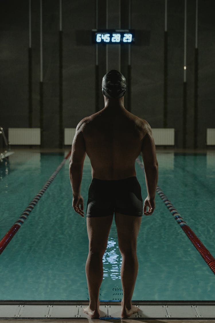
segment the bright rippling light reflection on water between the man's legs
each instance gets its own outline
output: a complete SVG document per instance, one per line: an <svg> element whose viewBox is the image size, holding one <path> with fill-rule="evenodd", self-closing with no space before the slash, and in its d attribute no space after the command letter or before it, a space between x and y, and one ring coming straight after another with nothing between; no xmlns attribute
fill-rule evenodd
<svg viewBox="0 0 215 323"><path fill-rule="evenodd" d="M112 280L120 279L122 257L117 241L113 237L108 238L107 249L103 255L103 279L111 277Z"/></svg>

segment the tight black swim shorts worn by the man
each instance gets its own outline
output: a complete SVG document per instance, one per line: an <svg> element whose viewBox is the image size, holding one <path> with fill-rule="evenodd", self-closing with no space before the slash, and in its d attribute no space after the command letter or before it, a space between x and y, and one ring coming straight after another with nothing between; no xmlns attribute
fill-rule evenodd
<svg viewBox="0 0 215 323"><path fill-rule="evenodd" d="M142 211L141 187L136 176L114 181L92 179L87 217L101 217L114 212L142 216Z"/></svg>

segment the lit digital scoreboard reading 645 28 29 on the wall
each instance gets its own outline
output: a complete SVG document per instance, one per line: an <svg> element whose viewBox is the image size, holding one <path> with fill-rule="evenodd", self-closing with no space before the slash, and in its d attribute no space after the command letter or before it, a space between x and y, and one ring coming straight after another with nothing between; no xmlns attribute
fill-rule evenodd
<svg viewBox="0 0 215 323"><path fill-rule="evenodd" d="M128 29L93 29L92 36L95 44L132 44L135 42L134 30Z"/></svg>

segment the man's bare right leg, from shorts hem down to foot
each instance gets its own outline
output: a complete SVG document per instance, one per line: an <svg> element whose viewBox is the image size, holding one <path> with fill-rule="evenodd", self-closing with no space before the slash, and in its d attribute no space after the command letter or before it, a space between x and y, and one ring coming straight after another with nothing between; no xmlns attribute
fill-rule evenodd
<svg viewBox="0 0 215 323"><path fill-rule="evenodd" d="M132 295L138 272L136 247L141 219L142 217L139 216L115 213L118 244L122 255L122 318L138 312L138 308L132 305Z"/></svg>

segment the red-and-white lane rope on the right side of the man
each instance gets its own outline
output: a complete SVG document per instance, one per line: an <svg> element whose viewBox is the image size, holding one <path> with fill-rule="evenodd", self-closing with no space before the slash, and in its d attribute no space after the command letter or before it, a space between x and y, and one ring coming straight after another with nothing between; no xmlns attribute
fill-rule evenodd
<svg viewBox="0 0 215 323"><path fill-rule="evenodd" d="M139 157L136 159L138 165L144 171L144 165L140 161ZM210 254L209 250L202 244L200 239L195 235L195 233L191 230L191 228L186 224L186 222L183 220L182 216L178 213L178 211L174 208L174 206L170 203L166 195L161 191L160 187L157 186L156 192L160 196L161 200L165 203L166 207L170 211L170 213L174 216L174 219L177 221L177 223L181 226L181 229L184 231L184 233L187 235L187 237L190 239L194 247L198 250L206 264L209 266L210 270L215 275L215 259Z"/></svg>

